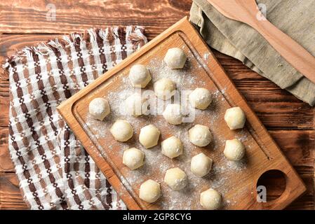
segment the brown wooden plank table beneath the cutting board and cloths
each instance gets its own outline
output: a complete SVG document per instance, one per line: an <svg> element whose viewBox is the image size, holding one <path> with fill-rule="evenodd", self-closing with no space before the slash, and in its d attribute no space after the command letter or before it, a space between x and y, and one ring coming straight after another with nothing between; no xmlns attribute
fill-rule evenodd
<svg viewBox="0 0 315 224"><path fill-rule="evenodd" d="M47 1L1 1L0 61L4 62L6 56L25 45L91 27L143 25L151 40L189 15L191 3L190 0L56 1L56 17L51 21L46 18ZM307 185L307 193L288 209L315 209L315 108L250 71L238 60L216 51L215 55ZM0 209L27 209L8 154L9 83L4 71L0 71L0 76ZM273 183L270 198L279 196L281 182L269 179L268 183Z"/></svg>

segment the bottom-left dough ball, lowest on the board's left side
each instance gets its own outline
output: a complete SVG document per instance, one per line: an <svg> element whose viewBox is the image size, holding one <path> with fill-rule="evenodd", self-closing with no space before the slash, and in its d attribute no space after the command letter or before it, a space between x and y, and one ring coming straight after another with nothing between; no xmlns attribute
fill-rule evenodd
<svg viewBox="0 0 315 224"><path fill-rule="evenodd" d="M140 186L139 197L148 203L156 202L161 196L160 184L153 180L147 180Z"/></svg>

